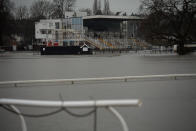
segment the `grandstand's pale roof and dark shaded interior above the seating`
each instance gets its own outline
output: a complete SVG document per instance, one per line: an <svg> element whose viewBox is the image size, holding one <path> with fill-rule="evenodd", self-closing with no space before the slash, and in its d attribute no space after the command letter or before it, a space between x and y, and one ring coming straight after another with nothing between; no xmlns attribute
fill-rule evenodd
<svg viewBox="0 0 196 131"><path fill-rule="evenodd" d="M137 16L95 15L83 17L83 20L84 27L88 32L116 33L121 37L135 37L137 26L142 18Z"/></svg>

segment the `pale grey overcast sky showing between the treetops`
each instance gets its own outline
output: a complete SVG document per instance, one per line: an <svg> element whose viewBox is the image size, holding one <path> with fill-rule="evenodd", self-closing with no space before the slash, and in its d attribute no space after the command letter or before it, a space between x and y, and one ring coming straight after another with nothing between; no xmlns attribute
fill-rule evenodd
<svg viewBox="0 0 196 131"><path fill-rule="evenodd" d="M35 0L12 0L15 2L16 6L18 5L31 5L31 3ZM49 0L51 1L51 0ZM91 8L94 0L76 0L76 9L78 8ZM104 0L101 0L102 8ZM137 12L140 0L109 0L111 11L126 11L128 14L131 12Z"/></svg>

